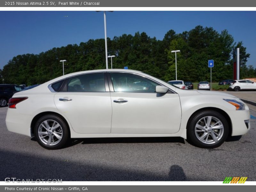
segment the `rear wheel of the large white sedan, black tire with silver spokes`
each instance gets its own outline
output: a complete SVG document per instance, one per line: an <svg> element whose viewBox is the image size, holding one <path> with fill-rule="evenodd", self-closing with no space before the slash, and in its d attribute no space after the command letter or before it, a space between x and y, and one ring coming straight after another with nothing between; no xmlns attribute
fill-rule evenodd
<svg viewBox="0 0 256 192"><path fill-rule="evenodd" d="M60 126L58 126L58 124L55 123L55 125L57 125L58 128L55 129L54 131L53 131L53 129L52 129L52 131L48 129L49 131L51 131L48 133L48 131L46 131L46 129L44 128L46 126L45 126L45 123L43 123L43 122L48 122L50 129L52 129L54 127L53 126L54 122L57 122ZM50 127L50 126L52 126L52 127ZM44 132L44 133L47 132L47 134L39 136L39 133L38 133L39 131ZM59 116L56 116L56 115L45 115L45 116L42 116L41 118L39 118L36 122L36 125L34 128L34 133L36 135L36 140L39 143L39 145L41 145L43 148L46 148L46 149L60 149L67 143L67 140L69 138L67 124L63 121L62 118L60 118ZM59 136L62 133L61 139L58 139L55 136L57 133ZM47 138L48 138L48 140L51 138L50 140L52 140L53 142L50 141L50 144L46 143ZM56 144L54 144L54 142L56 142Z"/></svg>

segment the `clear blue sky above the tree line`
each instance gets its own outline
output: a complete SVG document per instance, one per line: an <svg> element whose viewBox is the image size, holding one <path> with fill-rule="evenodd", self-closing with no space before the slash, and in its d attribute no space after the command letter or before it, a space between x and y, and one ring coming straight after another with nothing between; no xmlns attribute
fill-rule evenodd
<svg viewBox="0 0 256 192"><path fill-rule="evenodd" d="M236 42L243 41L251 54L247 65L256 68L255 20L255 11L115 11L107 12L107 36L139 31L162 40L170 29L176 33L197 25L218 32L227 29ZM104 38L103 12L95 11L1 11L0 27L0 68L19 54Z"/></svg>

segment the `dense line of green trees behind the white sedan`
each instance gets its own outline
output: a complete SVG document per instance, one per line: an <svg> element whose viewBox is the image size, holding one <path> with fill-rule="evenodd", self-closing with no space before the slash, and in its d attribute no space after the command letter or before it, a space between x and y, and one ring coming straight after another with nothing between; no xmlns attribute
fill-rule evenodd
<svg viewBox="0 0 256 192"><path fill-rule="evenodd" d="M227 30L221 33L212 27L196 26L190 31L176 34L169 30L163 40L150 37L145 32L123 34L107 39L108 55L115 55L113 68L143 71L165 81L175 80L175 53L177 52L177 76L184 81L209 81L208 60L214 60L212 81L233 77L234 49L240 48L240 77L255 77L256 69L247 67L250 54L243 42L235 42ZM62 63L67 60L65 74L106 68L104 39L68 44L39 54L23 54L13 57L0 70L4 83L42 84L62 75ZM110 60L108 68L111 68Z"/></svg>

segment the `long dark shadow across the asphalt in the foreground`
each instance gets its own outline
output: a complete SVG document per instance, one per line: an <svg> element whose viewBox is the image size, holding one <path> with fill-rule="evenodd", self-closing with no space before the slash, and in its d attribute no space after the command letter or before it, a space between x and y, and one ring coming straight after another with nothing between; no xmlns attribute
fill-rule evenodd
<svg viewBox="0 0 256 192"><path fill-rule="evenodd" d="M178 164L170 164L167 173L154 170L132 169L126 166L77 162L65 157L26 154L17 151L2 150L0 161L0 180L10 176L18 179L38 178L61 179L62 181L194 181L206 180L202 177L187 177ZM45 171L45 170L50 171ZM168 168L167 168L168 169ZM209 178L208 178L209 179ZM216 178L218 180L218 178Z"/></svg>

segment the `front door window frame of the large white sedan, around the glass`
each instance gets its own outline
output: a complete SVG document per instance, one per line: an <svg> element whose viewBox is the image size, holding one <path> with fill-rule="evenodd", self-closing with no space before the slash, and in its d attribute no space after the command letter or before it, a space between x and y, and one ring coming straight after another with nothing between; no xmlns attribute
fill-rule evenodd
<svg viewBox="0 0 256 192"><path fill-rule="evenodd" d="M113 83L112 83L112 80L111 80L110 73L127 73L127 74L138 75L138 76L144 77L144 78L146 78L146 79L148 79L150 81L153 81L154 83L156 83L158 85L165 86L165 85L161 84L160 82L155 81L154 79L151 79L149 77L143 76L143 75L138 74L138 73L124 72L124 71L109 71L109 72L107 72L107 76L108 76L108 86L109 86L110 92L115 92L114 91L114 86L113 86ZM167 86L165 86L165 87L167 87ZM168 88L168 92L167 93L176 93L172 89L170 89L169 87L167 87L167 88ZM156 92L116 92L116 93L156 93Z"/></svg>

